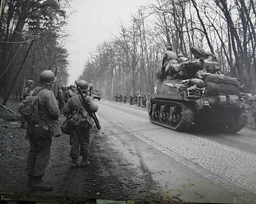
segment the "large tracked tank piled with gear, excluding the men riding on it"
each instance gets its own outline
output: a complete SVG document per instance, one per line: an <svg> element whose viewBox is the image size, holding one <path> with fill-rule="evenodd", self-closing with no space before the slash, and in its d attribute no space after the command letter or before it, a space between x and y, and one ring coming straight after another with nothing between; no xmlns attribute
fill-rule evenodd
<svg viewBox="0 0 256 204"><path fill-rule="evenodd" d="M195 48L196 49L196 48ZM247 123L238 79L220 73L209 56L166 66L150 96L149 118L154 124L185 132L194 127L235 133Z"/></svg>

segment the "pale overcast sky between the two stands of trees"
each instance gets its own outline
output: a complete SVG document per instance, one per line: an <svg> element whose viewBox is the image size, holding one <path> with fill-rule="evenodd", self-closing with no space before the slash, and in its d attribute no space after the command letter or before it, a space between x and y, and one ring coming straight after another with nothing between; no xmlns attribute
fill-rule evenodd
<svg viewBox="0 0 256 204"><path fill-rule="evenodd" d="M138 6L146 5L154 0L73 0L68 32L71 35L67 43L69 52L69 84L83 71L89 53L93 53L97 45L110 39L119 31L119 22L125 25L130 22L130 15L136 13Z"/></svg>

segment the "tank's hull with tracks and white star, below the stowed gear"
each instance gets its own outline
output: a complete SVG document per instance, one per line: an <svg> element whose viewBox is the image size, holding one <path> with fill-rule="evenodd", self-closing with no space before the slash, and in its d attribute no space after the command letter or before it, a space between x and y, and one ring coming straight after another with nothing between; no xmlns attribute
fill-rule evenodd
<svg viewBox="0 0 256 204"><path fill-rule="evenodd" d="M236 105L228 102L221 104L225 96L211 96L202 100L202 93L194 91L191 94L182 87L182 80L157 81L152 93L150 121L165 128L180 132L193 128L235 133L247 123L246 113L239 101ZM198 101L203 104L198 104Z"/></svg>

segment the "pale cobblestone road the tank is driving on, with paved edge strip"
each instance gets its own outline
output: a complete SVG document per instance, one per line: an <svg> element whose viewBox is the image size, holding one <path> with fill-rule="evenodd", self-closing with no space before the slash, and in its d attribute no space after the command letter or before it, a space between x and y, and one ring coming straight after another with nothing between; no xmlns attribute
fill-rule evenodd
<svg viewBox="0 0 256 204"><path fill-rule="evenodd" d="M98 104L105 136L130 134L139 139L136 148L144 167L165 196L176 195L182 201L256 203L255 131L180 133L150 123L146 108L107 100ZM129 141L124 143L129 146Z"/></svg>

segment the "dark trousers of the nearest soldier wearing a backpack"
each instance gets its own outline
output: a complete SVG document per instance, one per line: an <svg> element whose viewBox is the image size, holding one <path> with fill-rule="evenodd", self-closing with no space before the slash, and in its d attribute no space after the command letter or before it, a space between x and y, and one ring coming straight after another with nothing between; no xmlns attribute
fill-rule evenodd
<svg viewBox="0 0 256 204"><path fill-rule="evenodd" d="M31 128L29 134L30 149L27 160L27 174L29 176L44 176L49 163L52 138L42 138L36 127Z"/></svg>

